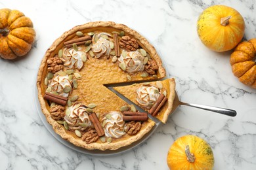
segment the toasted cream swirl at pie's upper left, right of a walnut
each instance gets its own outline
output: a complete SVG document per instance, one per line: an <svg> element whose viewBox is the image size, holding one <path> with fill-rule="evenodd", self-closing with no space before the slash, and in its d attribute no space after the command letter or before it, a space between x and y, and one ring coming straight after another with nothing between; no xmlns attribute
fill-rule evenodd
<svg viewBox="0 0 256 170"><path fill-rule="evenodd" d="M64 48L63 56L60 59L68 69L80 70L83 67L82 55L86 56L85 52L81 51L81 48L78 48L78 51L75 51L74 48Z"/></svg>

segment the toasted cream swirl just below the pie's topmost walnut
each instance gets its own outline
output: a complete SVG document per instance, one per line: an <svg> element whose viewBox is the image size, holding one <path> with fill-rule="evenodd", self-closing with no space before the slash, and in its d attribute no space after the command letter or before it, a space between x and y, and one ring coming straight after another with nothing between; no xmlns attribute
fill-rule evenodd
<svg viewBox="0 0 256 170"><path fill-rule="evenodd" d="M135 74L144 71L144 57L138 51L127 52L126 56L120 56L119 62L125 63L127 73Z"/></svg>

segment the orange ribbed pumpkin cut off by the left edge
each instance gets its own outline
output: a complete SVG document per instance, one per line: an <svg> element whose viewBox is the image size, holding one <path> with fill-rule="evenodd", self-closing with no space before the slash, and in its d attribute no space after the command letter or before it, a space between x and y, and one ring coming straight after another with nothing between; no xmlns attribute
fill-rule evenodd
<svg viewBox="0 0 256 170"><path fill-rule="evenodd" d="M26 55L35 41L30 18L22 12L0 9L0 57L14 59Z"/></svg>

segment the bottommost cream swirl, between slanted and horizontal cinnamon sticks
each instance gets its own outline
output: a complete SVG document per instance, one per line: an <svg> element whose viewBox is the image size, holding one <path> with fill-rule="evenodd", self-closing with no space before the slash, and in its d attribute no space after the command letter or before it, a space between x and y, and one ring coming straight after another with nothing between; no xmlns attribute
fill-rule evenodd
<svg viewBox="0 0 256 170"><path fill-rule="evenodd" d="M108 114L110 115L108 118L105 117L102 119L103 122L106 121L106 124L103 127L106 137L119 138L125 135L125 132L123 131L125 122L123 122L122 114L114 111Z"/></svg>

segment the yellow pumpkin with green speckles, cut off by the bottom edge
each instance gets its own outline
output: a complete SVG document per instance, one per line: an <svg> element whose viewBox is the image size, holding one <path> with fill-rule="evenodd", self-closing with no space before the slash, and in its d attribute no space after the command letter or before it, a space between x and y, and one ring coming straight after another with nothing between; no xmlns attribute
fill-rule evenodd
<svg viewBox="0 0 256 170"><path fill-rule="evenodd" d="M172 170L213 169L213 151L202 138L185 135L169 148L167 165Z"/></svg>

